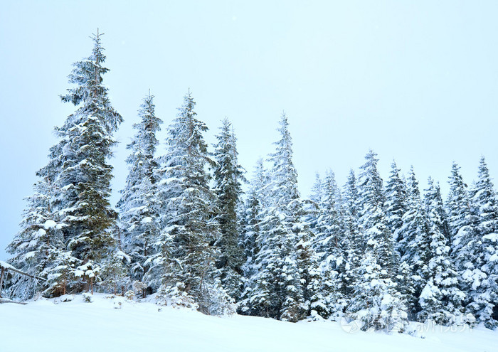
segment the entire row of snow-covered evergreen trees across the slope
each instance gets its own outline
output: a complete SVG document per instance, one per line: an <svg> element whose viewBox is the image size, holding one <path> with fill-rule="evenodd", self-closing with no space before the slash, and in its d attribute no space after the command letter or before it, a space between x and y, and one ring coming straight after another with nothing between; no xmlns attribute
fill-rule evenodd
<svg viewBox="0 0 498 352"><path fill-rule="evenodd" d="M59 142L8 247L12 265L47 281L11 276L11 297L96 285L206 314L345 316L388 331L408 319L497 326L498 203L484 159L470 188L453 164L445 203L438 183L429 179L422 196L413 169L404 179L395 163L384 186L373 151L358 179L351 170L339 187L329 171L304 199L282 114L275 152L258 161L243 199L231 123L223 120L210 153L189 92L157 156L162 121L149 94L116 211L108 161L122 117L102 85L100 35L93 40L61 97L77 110L55 129Z"/></svg>

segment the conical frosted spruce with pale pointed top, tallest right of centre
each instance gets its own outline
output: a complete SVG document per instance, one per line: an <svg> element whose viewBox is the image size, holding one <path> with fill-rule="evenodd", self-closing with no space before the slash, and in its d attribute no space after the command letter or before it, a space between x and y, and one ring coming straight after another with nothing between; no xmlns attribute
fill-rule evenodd
<svg viewBox="0 0 498 352"><path fill-rule="evenodd" d="M305 207L297 191L297 172L292 163L292 139L287 117L280 119L280 140L270 155L270 185L265 189L268 202L259 223L255 274L248 279L243 300L248 314L298 321L321 300L317 287L319 272L312 233Z"/></svg>

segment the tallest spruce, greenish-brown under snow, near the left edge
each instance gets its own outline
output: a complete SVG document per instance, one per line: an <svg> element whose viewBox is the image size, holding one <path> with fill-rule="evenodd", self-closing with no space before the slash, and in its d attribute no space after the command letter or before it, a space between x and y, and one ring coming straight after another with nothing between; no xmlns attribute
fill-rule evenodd
<svg viewBox="0 0 498 352"><path fill-rule="evenodd" d="M54 211L65 223L63 240L72 255L83 262L99 262L115 245L112 235L117 213L109 202L112 166L107 159L116 144L112 134L122 117L110 104L102 84L105 55L101 34L93 36L90 57L78 61L69 75L76 85L61 96L78 107L62 127L55 129L60 142L53 146L49 164L38 171L56 186ZM90 288L88 279L87 287Z"/></svg>

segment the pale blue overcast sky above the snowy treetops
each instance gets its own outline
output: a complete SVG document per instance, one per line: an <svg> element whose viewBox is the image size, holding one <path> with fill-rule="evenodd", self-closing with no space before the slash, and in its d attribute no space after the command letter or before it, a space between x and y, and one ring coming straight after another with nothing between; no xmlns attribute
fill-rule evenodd
<svg viewBox="0 0 498 352"><path fill-rule="evenodd" d="M248 176L272 152L285 110L303 196L317 171L344 183L370 148L384 180L396 159L404 172L414 166L421 188L433 176L447 191L452 161L470 184L482 154L495 177L497 16L497 1L2 1L0 260L53 127L75 110L58 95L97 28L124 117L115 203L149 89L163 127L189 88L208 142L231 119Z"/></svg>

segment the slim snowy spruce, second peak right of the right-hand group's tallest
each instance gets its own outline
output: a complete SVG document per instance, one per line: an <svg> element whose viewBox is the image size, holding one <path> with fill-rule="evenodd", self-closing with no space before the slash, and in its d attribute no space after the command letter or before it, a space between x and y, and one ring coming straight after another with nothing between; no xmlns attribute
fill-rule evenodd
<svg viewBox="0 0 498 352"><path fill-rule="evenodd" d="M398 234L401 238L399 242L401 260L406 262L411 269L413 296L407 298L410 313L415 316L420 311L418 297L420 297L425 282L428 280L430 235L429 221L425 206L420 198L418 181L415 178L413 167L410 168L407 183L407 211L401 219L403 226L398 230Z"/></svg>

